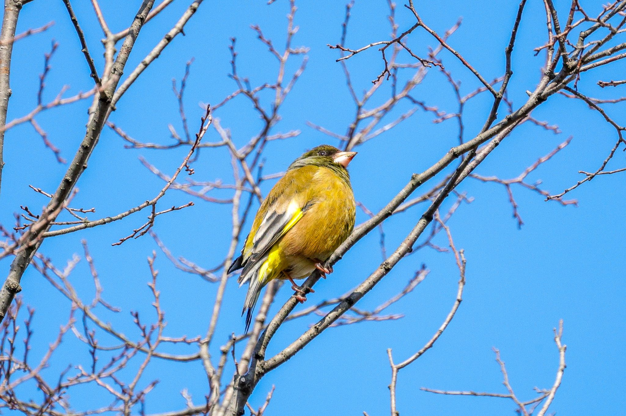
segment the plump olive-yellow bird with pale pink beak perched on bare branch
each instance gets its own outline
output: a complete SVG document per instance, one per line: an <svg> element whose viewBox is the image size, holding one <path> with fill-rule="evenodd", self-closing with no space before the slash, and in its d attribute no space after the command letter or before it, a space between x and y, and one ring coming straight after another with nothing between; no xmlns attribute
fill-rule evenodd
<svg viewBox="0 0 626 416"><path fill-rule="evenodd" d="M242 310L242 315L247 310L246 332L261 289L270 281L289 280L302 303L306 292L294 279L316 269L322 277L332 272L326 260L354 229L356 207L346 169L354 155L329 145L305 152L261 204L240 257L228 269L244 269L240 286L250 282Z"/></svg>

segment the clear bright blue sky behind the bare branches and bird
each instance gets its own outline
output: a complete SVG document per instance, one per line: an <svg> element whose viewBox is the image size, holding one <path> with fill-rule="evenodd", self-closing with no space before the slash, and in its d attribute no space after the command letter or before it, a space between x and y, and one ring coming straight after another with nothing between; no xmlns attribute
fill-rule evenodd
<svg viewBox="0 0 626 416"><path fill-rule="evenodd" d="M141 31L126 73L170 29L187 3L173 2ZM567 12L568 2L556 3L563 13ZM584 2L592 14L596 13L595 3ZM138 4L140 2L136 0L101 2L114 31L128 26ZM418 11L424 21L439 32L448 29L462 16L463 25L450 42L486 79L493 79L503 74L503 51L517 5L517 1L497 4L418 2ZM285 102L282 120L274 132L300 129L302 134L288 141L269 144L267 173L282 171L305 149L324 142L336 144L333 139L307 127L306 121L343 133L354 114L341 67L334 61L338 57L337 51L326 46L339 41L345 5L339 1L300 1L298 7L296 22L300 29L294 46L310 47L310 61ZM86 1L75 1L74 8L100 68L103 64L99 42L101 31L91 6ZM249 77L253 85L275 79L277 63L249 26L259 24L266 36L282 46L287 11L285 0L278 0L271 6L257 0L205 2L187 25L187 36L177 37L148 68L118 103L111 120L140 141L170 141L167 124L171 122L181 130L171 79L180 79L185 62L195 57L185 102L190 129L197 130L203 112L197 103L217 103L236 89L227 77L230 37L237 37L242 76ZM402 7L401 2L397 14L400 30L413 24L410 12ZM386 2L357 0L347 45L360 47L386 39L389 33L386 16ZM36 0L25 6L18 32L51 20L56 24L47 32L15 44L11 65L13 96L8 120L28 113L36 105L38 74L43 69L43 54L49 51L51 38L60 46L51 61L44 101L53 99L63 84L71 86L68 95L86 91L93 84L62 2ZM513 53L515 75L510 85L510 97L518 105L525 99L524 91L533 89L540 75L544 58L542 54L535 57L532 49L544 42L543 4L529 1ZM422 54L426 46L435 46L431 37L419 31L409 38L409 44ZM441 57L454 78L463 81L463 94L478 87L471 74L450 54L441 54ZM289 71L298 64L296 57ZM382 68L379 54L373 49L355 57L349 64L357 91L369 87L371 79ZM622 79L625 69L625 64L620 61L603 67L601 71L587 72L579 88L590 96L615 97L620 93L620 87L602 90L595 82L598 79ZM621 88L624 94L626 87ZM444 111L456 110L451 88L436 71L431 71L423 84L416 87L414 96ZM383 96L378 98L382 99ZM89 103L82 101L45 112L37 118L66 159L71 159L83 137ZM486 95L468 104L466 137L471 138L480 130L489 107ZM408 102L402 104L390 120L409 108ZM623 104L607 107L618 119L625 109ZM534 115L558 124L563 133L555 135L530 124L522 126L478 168L478 173L515 177L538 157L573 135L570 146L529 177L529 182L541 179L544 189L557 193L582 179L578 170L597 169L617 140L612 127L582 102L552 97ZM215 116L220 117L223 126L232 130L239 146L259 131L260 121L244 99L234 101ZM454 145L455 122L433 124L432 119L432 114L418 111L409 121L358 149L359 156L351 164L357 201L362 201L371 210L380 209L406 184L412 173L423 171ZM217 140L215 131L209 131L207 139ZM187 149L128 150L123 144L110 129L105 129L89 168L80 179L80 193L73 205L96 207L92 218L123 212L151 199L163 186L160 179L141 166L138 156L144 156L163 172L173 172L187 152ZM37 210L46 203L43 196L28 188L28 184L53 191L66 166L54 161L51 152L44 148L40 137L28 124L8 132L4 158L0 220L9 225L13 222L13 212L18 212L20 205ZM618 152L609 167L618 169L625 164L623 152ZM196 181L217 178L232 181L225 149L203 150L194 168L193 179ZM626 342L623 307L626 289L623 279L625 180L626 174L622 173L597 177L584 184L568 195L578 199L578 207L544 202L541 196L515 187L515 197L525 221L521 230L511 217L511 207L502 186L473 180L462 184L460 190L475 199L471 204L463 204L449 225L456 245L465 249L468 259L464 302L434 349L401 371L398 380L401 414L513 415L515 406L509 400L434 395L421 392L419 387L505 393L491 351L491 347L497 347L516 393L522 400L529 400L535 397L533 387L549 388L553 384L558 352L552 328L559 319L565 322L563 341L568 345L568 367L551 411L563 415L626 414L622 388L626 382L623 364ZM272 183L264 184L262 191L269 191L270 186ZM215 195L226 196L227 192ZM185 204L190 200L190 196L170 191L159 207ZM197 203L194 207L158 217L155 231L175 255L184 255L203 267L213 267L227 252L230 207L194 202ZM445 207L449 207L449 202ZM390 250L404 239L423 209L415 207L385 223ZM100 312L105 320L116 322L132 337L138 335L128 311L140 310L146 318L153 316L150 292L145 285L150 278L145 259L152 250L158 251L158 247L149 236L130 240L121 247L111 247L111 242L143 224L147 214L141 212L114 224L55 237L46 240L41 249L60 267L74 253L81 253L80 239L87 239L105 288L105 299L123 309L117 316L103 310ZM364 219L366 216L359 212L357 222ZM249 224L245 227L247 231ZM378 238L376 232L372 232L362 239L336 265L335 273L316 287L309 302L342 294L365 279L381 261ZM443 235L436 242L446 245ZM389 414L387 385L390 370L386 349L393 349L396 361L403 360L420 349L443 322L456 294L458 270L453 256L431 249L409 256L360 305L375 307L396 294L421 264L431 270L426 280L389 309L390 313L405 314L403 319L327 330L294 359L265 377L255 390L252 403L262 404L265 394L275 384L274 399L267 415L359 415L362 411L371 416ZM9 262L4 260L0 266L6 275ZM156 267L160 270L158 287L168 321L167 335L205 334L217 285L183 274L160 252ZM93 282L86 262L78 265L71 279L84 298L91 299ZM22 285L25 302L37 310L32 354L40 357L56 336L58 326L65 322L69 305L33 269L26 272ZM227 341L230 332L243 329L240 307L244 292L237 289L235 280L228 283L213 345L215 352ZM274 310L289 295L287 290L280 292ZM283 325L272 340L269 353L278 352L289 344L311 322L314 319L307 318ZM104 336L101 342L114 344ZM185 347L177 347L177 350L185 351ZM188 347L187 351L195 352L195 347ZM55 379L59 369L66 367L68 362L73 365L90 363L87 350L73 334L67 335L66 342L44 374ZM134 369L128 369L128 374ZM182 409L185 404L179 392L183 388L189 390L197 403L208 393L206 376L199 362L180 365L153 360L144 382L153 379L159 379L160 383L148 396L145 409L148 414ZM41 395L31 388L21 391L24 394L30 391L36 400ZM73 390L70 398L78 410L110 400L101 390L86 388Z"/></svg>

